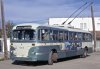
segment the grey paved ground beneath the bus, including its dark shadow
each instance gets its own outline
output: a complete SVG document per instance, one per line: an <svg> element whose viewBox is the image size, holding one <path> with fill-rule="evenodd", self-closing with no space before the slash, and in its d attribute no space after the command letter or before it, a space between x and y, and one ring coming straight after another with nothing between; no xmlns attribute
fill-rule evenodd
<svg viewBox="0 0 100 69"><path fill-rule="evenodd" d="M65 61L66 60L66 61ZM12 64L11 60L0 61L0 69L100 69L100 52L90 54L87 58L60 60L48 65L47 62Z"/></svg>

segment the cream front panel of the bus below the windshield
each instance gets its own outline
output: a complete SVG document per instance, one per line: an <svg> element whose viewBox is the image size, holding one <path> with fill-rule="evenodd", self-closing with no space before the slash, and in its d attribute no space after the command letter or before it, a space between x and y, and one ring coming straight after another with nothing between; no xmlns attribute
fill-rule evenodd
<svg viewBox="0 0 100 69"><path fill-rule="evenodd" d="M32 47L32 43L13 43L13 53L16 57L27 57L28 51Z"/></svg>

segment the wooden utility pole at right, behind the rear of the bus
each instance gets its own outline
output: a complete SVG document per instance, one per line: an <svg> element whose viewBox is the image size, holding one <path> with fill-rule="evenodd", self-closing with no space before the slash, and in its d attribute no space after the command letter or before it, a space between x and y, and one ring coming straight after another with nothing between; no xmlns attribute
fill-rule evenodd
<svg viewBox="0 0 100 69"><path fill-rule="evenodd" d="M92 27L93 27L94 52L95 52L96 51L96 31L95 31L93 4L91 5L91 17L92 17Z"/></svg>

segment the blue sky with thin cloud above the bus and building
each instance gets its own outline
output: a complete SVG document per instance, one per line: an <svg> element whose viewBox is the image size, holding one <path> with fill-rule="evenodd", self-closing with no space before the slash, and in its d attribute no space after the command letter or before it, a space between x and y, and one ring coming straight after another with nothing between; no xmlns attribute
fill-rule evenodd
<svg viewBox="0 0 100 69"><path fill-rule="evenodd" d="M5 20L10 20L14 23L42 23L47 22L49 18L66 18L86 2L88 5L90 1L91 0L4 0ZM94 16L99 17L100 0L94 0L93 2ZM90 7L88 7L78 17L90 16ZM75 17L75 15L72 17Z"/></svg>

